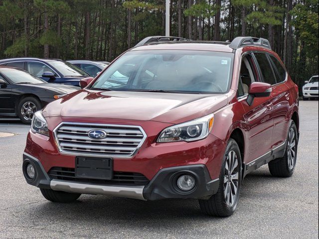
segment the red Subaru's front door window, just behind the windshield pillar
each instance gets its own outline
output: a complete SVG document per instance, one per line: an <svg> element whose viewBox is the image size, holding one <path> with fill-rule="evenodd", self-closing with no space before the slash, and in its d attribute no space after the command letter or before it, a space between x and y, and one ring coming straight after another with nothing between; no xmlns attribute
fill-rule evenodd
<svg viewBox="0 0 319 239"><path fill-rule="evenodd" d="M243 57L240 68L240 77L238 83L238 97L247 95L251 83L255 82L255 72L252 67L253 61L250 54Z"/></svg>

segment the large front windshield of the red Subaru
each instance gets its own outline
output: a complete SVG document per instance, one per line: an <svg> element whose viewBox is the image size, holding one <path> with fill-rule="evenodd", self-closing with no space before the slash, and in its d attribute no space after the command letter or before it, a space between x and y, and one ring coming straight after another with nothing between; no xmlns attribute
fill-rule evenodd
<svg viewBox="0 0 319 239"><path fill-rule="evenodd" d="M92 89L220 94L228 91L233 53L193 50L130 51Z"/></svg>

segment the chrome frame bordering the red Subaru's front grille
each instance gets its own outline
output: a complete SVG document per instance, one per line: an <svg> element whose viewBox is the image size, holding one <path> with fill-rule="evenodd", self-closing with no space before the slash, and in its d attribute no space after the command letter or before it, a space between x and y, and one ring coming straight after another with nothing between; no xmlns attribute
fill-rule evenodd
<svg viewBox="0 0 319 239"><path fill-rule="evenodd" d="M61 147L61 144L59 142L59 138L58 138L58 129L62 126L62 125L83 125L83 126L96 126L98 129L99 126L106 126L106 127L117 127L117 128L132 128L132 129L138 129L141 131L141 133L143 134L143 138L141 139L141 141L139 142L138 145L132 145L135 149L132 153L130 154L126 154L126 155L120 155L120 154L98 154L98 153L94 153L94 152L69 152L66 150L63 150ZM94 129L94 128L92 128ZM54 135L54 141L55 144L57 145L59 151L61 154L65 154L65 155L73 155L73 156L92 156L92 157L111 157L111 158L132 158L134 157L137 152L139 151L139 149L141 148L141 146L143 145L143 143L145 142L146 138L147 138L147 134L145 133L145 131L143 130L143 128L139 125L124 125L124 124L102 124L102 123L78 123L78 122L61 122L59 125L57 125L54 129L53 129L53 135ZM106 140L106 139L105 139ZM103 142L103 140L101 141ZM72 142L71 142L72 143ZM70 144L71 145L71 144ZM97 145L99 146L99 145Z"/></svg>

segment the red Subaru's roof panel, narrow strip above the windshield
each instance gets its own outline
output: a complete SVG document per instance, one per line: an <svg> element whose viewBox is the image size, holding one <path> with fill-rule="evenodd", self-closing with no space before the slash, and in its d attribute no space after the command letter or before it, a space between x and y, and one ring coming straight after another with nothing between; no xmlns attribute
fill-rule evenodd
<svg viewBox="0 0 319 239"><path fill-rule="evenodd" d="M197 50L197 51L219 51L219 52L233 52L229 45L224 44L209 44L209 43L171 43L165 42L160 44L150 44L132 48L131 51L139 50Z"/></svg>

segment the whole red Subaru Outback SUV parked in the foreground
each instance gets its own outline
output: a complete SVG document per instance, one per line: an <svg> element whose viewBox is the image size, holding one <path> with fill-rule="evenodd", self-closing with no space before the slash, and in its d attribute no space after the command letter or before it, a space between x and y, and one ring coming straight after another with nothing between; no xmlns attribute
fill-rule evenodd
<svg viewBox="0 0 319 239"><path fill-rule="evenodd" d="M23 173L47 200L194 198L226 217L249 172L294 172L298 88L266 39L150 37L81 86L27 136Z"/></svg>

